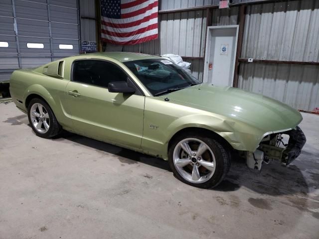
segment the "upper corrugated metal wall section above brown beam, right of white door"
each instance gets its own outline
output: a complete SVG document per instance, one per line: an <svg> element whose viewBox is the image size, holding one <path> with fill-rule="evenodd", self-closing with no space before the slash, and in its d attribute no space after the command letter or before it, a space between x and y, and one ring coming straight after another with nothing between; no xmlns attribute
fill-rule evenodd
<svg viewBox="0 0 319 239"><path fill-rule="evenodd" d="M318 61L319 1L298 0L247 7L243 58Z"/></svg>

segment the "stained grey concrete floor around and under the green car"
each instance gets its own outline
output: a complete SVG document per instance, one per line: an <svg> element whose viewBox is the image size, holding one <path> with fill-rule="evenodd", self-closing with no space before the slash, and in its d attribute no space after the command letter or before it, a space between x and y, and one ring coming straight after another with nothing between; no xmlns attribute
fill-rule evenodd
<svg viewBox="0 0 319 239"><path fill-rule="evenodd" d="M220 186L187 186L164 160L75 134L35 136L0 104L0 239L319 239L319 116L289 167L234 160Z"/></svg>

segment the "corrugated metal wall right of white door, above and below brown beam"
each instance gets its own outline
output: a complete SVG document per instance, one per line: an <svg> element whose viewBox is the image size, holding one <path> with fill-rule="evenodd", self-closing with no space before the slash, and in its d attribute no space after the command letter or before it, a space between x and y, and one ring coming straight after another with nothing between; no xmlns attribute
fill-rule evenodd
<svg viewBox="0 0 319 239"><path fill-rule="evenodd" d="M319 1L247 7L242 58L319 61ZM239 87L296 109L319 107L319 66L242 63Z"/></svg>

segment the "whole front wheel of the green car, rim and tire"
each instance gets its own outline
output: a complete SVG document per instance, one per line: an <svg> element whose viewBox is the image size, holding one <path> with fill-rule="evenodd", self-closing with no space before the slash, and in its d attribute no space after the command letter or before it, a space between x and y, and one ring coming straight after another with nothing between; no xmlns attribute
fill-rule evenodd
<svg viewBox="0 0 319 239"><path fill-rule="evenodd" d="M199 188L211 188L226 176L230 154L215 139L184 133L173 140L168 161L180 181Z"/></svg>

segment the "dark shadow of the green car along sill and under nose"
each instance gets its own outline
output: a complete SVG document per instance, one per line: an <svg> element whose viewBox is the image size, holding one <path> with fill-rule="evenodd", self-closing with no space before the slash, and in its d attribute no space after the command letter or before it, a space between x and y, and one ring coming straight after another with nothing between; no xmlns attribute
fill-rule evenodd
<svg viewBox="0 0 319 239"><path fill-rule="evenodd" d="M64 132L61 138L54 140L69 140L85 145L95 150L116 155L122 163L143 163L163 170L171 171L168 162L133 150L83 137L74 133ZM272 196L303 194L307 195L308 185L301 170L296 165L284 166L278 161L263 165L261 171L249 169L242 158L233 158L226 178L211 190L232 192L246 187L260 194Z"/></svg>

